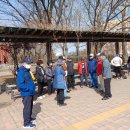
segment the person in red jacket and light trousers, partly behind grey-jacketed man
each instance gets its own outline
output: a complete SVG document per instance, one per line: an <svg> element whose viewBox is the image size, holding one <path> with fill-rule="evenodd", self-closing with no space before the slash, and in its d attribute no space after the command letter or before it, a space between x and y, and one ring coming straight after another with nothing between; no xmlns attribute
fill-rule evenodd
<svg viewBox="0 0 130 130"><path fill-rule="evenodd" d="M97 54L97 59L98 59L98 65L97 65L97 75L98 75L98 81L100 83L99 92L103 94L105 92L104 89L104 80L102 77L102 60L100 58L100 53Z"/></svg>

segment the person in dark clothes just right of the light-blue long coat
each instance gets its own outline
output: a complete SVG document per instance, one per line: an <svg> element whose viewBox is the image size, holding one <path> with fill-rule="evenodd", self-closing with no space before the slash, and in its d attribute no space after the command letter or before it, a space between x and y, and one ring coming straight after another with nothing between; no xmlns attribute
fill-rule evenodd
<svg viewBox="0 0 130 130"><path fill-rule="evenodd" d="M66 64L67 64L68 92L70 92L71 89L76 90L75 79L74 79L74 63L72 61L72 57L68 57Z"/></svg>

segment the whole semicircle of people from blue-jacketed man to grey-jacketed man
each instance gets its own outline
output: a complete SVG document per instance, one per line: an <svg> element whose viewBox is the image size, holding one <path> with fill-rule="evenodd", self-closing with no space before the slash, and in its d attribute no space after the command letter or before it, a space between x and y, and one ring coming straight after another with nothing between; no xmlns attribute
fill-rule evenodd
<svg viewBox="0 0 130 130"><path fill-rule="evenodd" d="M35 120L31 117L33 108L33 97L35 94L35 84L30 73L31 60L30 58L25 58L23 60L22 66L17 71L17 84L23 98L23 118L24 118L24 128L34 128L35 124L32 121ZM90 54L89 60L81 58L78 63L78 74L80 75L80 86L84 86L83 79L85 78L85 85L93 87L96 90L100 90L103 93L102 100L107 100L112 97L111 94L111 67L107 60L105 54L98 53L97 57L94 54ZM90 83L88 78L90 77ZM43 61L38 60L36 66L35 78L38 84L38 98L43 99L43 86L45 80L47 81L47 92L51 93L57 91L57 104L59 106L67 105L64 103L67 93L75 88L75 78L74 78L74 63L71 57L66 58L60 56L54 64L52 61L47 63L47 67L43 69ZM100 81L100 86L98 84L98 79Z"/></svg>

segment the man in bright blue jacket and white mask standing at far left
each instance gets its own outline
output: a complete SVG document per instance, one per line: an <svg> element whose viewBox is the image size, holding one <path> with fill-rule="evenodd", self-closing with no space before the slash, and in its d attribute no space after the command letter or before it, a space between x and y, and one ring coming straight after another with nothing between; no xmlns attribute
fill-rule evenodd
<svg viewBox="0 0 130 130"><path fill-rule="evenodd" d="M35 124L31 121L32 109L33 109L33 96L35 94L35 84L30 74L31 59L25 58L22 66L17 71L17 84L20 91L20 95L23 98L23 128L34 128Z"/></svg>

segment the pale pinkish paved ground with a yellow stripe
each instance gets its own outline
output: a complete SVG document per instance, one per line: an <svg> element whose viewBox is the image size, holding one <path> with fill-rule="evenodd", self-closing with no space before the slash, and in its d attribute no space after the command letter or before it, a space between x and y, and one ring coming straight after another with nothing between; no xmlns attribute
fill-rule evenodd
<svg viewBox="0 0 130 130"><path fill-rule="evenodd" d="M130 130L130 77L113 79L113 97L106 101L91 88L76 88L64 107L57 105L56 94L36 100L34 130ZM1 94L0 130L23 130L22 108L21 98L13 102Z"/></svg>

